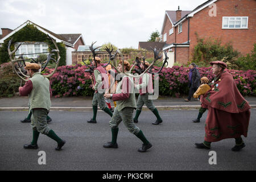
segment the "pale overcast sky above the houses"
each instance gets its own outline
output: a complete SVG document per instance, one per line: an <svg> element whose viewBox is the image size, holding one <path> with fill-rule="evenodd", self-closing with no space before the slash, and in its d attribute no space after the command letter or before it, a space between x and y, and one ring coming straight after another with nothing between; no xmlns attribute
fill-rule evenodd
<svg viewBox="0 0 256 182"><path fill-rule="evenodd" d="M161 31L166 10L193 10L207 0L0 0L0 28L31 20L55 34L82 34L85 44L138 48ZM2 34L0 32L0 34Z"/></svg>

